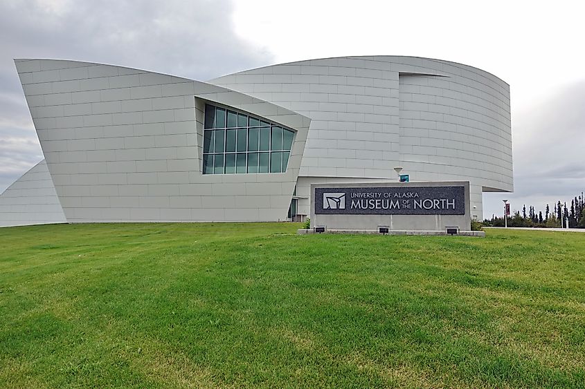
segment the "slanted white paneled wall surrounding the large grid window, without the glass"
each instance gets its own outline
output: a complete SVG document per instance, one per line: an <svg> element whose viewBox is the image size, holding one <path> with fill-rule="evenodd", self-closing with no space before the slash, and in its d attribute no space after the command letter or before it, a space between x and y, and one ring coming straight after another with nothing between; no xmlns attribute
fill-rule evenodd
<svg viewBox="0 0 585 389"><path fill-rule="evenodd" d="M69 222L286 220L310 120L235 91L144 70L15 60ZM285 173L201 173L204 104L296 131Z"/></svg>

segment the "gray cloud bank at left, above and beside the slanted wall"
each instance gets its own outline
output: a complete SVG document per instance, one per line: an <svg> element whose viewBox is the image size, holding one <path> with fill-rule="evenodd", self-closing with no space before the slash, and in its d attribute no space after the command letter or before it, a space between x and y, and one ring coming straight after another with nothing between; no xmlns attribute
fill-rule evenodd
<svg viewBox="0 0 585 389"><path fill-rule="evenodd" d="M233 32L227 0L2 1L0 193L42 159L13 58L56 58L206 80L269 64ZM6 38L5 38L6 37Z"/></svg>

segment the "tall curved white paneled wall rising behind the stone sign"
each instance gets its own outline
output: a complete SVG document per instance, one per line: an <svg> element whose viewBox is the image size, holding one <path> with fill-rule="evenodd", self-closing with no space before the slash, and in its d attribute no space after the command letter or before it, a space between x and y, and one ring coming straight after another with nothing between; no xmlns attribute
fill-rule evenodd
<svg viewBox="0 0 585 389"><path fill-rule="evenodd" d="M309 182L469 180L512 191L510 88L483 70L418 57L343 57L267 66L211 81L312 119L298 194ZM308 214L308 201L300 203Z"/></svg>

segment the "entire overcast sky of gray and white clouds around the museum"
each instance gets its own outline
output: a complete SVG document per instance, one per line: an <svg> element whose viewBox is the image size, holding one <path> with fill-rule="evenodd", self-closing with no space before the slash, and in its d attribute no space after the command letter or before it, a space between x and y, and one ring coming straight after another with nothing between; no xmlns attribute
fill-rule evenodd
<svg viewBox="0 0 585 389"><path fill-rule="evenodd" d="M13 58L96 61L206 80L319 57L414 55L510 84L514 193L484 216L585 190L585 51L577 1L3 0L0 192L42 152Z"/></svg>

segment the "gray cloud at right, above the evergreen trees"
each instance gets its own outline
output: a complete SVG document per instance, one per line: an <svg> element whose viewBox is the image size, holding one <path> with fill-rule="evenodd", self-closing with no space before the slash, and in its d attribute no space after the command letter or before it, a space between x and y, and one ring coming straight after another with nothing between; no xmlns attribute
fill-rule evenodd
<svg viewBox="0 0 585 389"><path fill-rule="evenodd" d="M512 103L514 99L512 98ZM514 193L484 195L484 216L570 200L585 191L585 82L566 87L547 102L514 113Z"/></svg>

